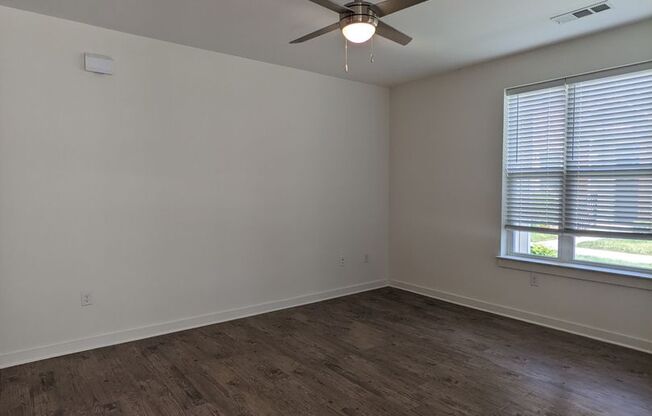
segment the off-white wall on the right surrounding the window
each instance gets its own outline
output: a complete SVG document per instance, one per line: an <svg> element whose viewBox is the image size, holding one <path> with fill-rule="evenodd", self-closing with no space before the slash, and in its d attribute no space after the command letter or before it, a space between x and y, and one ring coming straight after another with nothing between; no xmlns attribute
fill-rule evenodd
<svg viewBox="0 0 652 416"><path fill-rule="evenodd" d="M652 59L652 20L392 89L396 285L652 351L652 291L499 268L504 88Z"/></svg>

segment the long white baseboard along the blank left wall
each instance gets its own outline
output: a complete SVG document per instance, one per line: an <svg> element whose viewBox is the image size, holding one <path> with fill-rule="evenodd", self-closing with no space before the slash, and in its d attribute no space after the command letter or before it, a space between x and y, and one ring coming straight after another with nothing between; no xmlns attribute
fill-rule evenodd
<svg viewBox="0 0 652 416"><path fill-rule="evenodd" d="M245 306L242 308L193 316L176 321L163 322L140 328L131 328L124 331L111 332L88 338L76 339L52 345L4 353L0 354L0 369L39 360L45 360L48 358L59 357L62 355L88 351L95 348L108 347L110 345L117 345L125 342L137 341L159 335L170 334L173 332L185 331L188 329L213 325L220 322L232 321L234 319L246 318L248 316L260 315L263 313L292 308L295 306L307 305L309 303L321 302L328 299L366 292L386 286L388 286L388 282L386 280L377 280L322 292L310 293L307 295L288 299Z"/></svg>

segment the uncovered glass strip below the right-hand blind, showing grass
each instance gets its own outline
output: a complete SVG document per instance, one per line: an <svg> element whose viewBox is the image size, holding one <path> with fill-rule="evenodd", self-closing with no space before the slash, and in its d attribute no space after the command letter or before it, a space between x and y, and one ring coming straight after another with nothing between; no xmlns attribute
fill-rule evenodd
<svg viewBox="0 0 652 416"><path fill-rule="evenodd" d="M652 269L652 241L577 237L575 260Z"/></svg>

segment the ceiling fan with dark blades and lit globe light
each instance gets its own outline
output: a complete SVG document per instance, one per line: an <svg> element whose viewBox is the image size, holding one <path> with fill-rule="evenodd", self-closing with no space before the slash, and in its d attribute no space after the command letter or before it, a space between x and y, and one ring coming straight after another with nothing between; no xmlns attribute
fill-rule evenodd
<svg viewBox="0 0 652 416"><path fill-rule="evenodd" d="M412 38L382 22L380 18L428 0L385 0L375 4L369 3L368 1L355 0L344 6L333 3L330 0L309 1L339 13L340 21L302 36L299 39L295 39L290 43L302 43L340 29L349 42L364 43L371 39L374 34L378 34L405 46L410 43Z"/></svg>

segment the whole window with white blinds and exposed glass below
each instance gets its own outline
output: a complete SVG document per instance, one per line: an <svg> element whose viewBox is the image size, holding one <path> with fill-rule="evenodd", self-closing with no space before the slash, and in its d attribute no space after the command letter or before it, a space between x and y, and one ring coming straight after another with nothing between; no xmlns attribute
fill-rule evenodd
<svg viewBox="0 0 652 416"><path fill-rule="evenodd" d="M504 253L652 273L652 63L507 90Z"/></svg>

